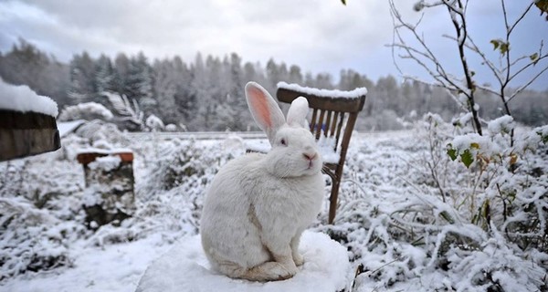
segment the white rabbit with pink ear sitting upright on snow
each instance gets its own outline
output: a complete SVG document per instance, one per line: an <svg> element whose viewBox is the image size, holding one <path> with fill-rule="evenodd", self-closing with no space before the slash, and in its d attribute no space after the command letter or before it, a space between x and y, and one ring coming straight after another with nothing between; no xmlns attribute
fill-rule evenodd
<svg viewBox="0 0 548 292"><path fill-rule="evenodd" d="M307 99L293 100L286 121L257 83L246 85L246 98L272 149L238 157L216 174L205 195L202 246L212 267L227 276L287 279L303 264L300 235L320 212L321 155L304 128Z"/></svg>

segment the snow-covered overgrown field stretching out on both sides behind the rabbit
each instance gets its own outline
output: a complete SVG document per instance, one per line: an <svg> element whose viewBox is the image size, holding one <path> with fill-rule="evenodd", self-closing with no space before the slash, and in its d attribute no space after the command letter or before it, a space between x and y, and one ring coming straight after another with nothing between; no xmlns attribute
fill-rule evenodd
<svg viewBox="0 0 548 292"><path fill-rule="evenodd" d="M360 269L355 278L349 273L347 290L545 290L546 246L509 241L494 224L501 217L494 199L492 224L474 221L479 206L470 202L484 202L487 194L467 196L474 176L442 157L445 144L431 151L428 132L419 128L353 136L332 225L326 224L330 186L325 189L311 230L347 247L353 271ZM155 258L198 233L207 184L227 160L243 155L246 143L235 135L127 135L99 122L77 133L63 138L59 151L0 162L0 291L134 291ZM89 146L135 154L136 214L96 232L84 225L84 173L75 159ZM541 178L545 158L527 157ZM438 162L436 172L428 162ZM534 197L543 202L544 181ZM532 220L546 228L548 209L539 208Z"/></svg>

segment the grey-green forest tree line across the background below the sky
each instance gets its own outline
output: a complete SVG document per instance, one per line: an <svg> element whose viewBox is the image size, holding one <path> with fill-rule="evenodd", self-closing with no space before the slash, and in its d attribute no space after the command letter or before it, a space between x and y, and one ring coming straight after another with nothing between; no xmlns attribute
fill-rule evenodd
<svg viewBox="0 0 548 292"><path fill-rule="evenodd" d="M145 115L185 130L256 129L244 96L249 80L274 93L279 81L320 89L368 89L358 130L395 130L402 120L413 120L427 112L450 120L460 110L445 89L419 82L399 82L393 76L376 82L365 75L343 69L337 81L327 73L303 72L297 65L270 59L266 66L243 63L236 53L224 57L197 53L185 62L181 57L150 60L142 53L124 53L94 58L86 52L59 62L34 45L20 40L10 51L0 53L0 77L12 84L26 84L40 95L57 101L59 110L85 102L111 109L104 92L135 100ZM133 102L133 101L132 101ZM486 120L502 115L501 101L479 92L480 115ZM538 126L548 123L548 90L526 90L512 100L511 111L519 122ZM113 111L114 112L114 111ZM121 125L139 130L131 124Z"/></svg>

